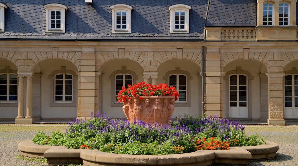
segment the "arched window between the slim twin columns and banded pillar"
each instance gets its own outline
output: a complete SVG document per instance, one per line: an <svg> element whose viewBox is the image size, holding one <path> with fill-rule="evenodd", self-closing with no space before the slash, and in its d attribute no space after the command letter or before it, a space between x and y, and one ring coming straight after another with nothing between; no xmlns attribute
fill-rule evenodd
<svg viewBox="0 0 298 166"><path fill-rule="evenodd" d="M55 103L72 103L73 79L71 74L55 75Z"/></svg>

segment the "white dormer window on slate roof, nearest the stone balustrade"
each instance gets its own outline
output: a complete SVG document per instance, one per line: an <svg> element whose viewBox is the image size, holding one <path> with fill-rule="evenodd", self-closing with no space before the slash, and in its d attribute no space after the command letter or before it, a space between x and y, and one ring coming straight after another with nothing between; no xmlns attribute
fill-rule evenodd
<svg viewBox="0 0 298 166"><path fill-rule="evenodd" d="M191 6L175 4L169 7L170 10L170 31L171 33L189 33L189 11Z"/></svg>

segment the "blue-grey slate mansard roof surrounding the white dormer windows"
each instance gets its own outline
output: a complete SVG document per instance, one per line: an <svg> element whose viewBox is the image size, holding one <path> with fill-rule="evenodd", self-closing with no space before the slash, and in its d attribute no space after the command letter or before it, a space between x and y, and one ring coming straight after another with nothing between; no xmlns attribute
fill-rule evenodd
<svg viewBox="0 0 298 166"><path fill-rule="evenodd" d="M5 32L0 39L41 40L204 40L204 26L257 26L255 0L0 0L5 10ZM60 3L66 10L66 32L46 33L44 4ZM127 4L131 33L112 34L110 6ZM190 33L170 34L170 11L174 4L191 6Z"/></svg>

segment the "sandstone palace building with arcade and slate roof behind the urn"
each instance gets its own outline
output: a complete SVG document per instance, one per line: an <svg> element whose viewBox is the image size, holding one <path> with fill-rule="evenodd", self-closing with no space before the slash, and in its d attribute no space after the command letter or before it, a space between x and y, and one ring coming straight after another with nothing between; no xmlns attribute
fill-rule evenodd
<svg viewBox="0 0 298 166"><path fill-rule="evenodd" d="M296 0L0 0L0 121L125 118L175 86L174 117L298 121Z"/></svg>

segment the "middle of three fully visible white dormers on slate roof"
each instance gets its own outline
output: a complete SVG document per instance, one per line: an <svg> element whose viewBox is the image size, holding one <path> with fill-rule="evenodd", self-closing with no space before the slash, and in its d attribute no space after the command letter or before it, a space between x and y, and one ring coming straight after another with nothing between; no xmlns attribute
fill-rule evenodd
<svg viewBox="0 0 298 166"><path fill-rule="evenodd" d="M110 6L112 10L112 33L131 33L132 6L115 4Z"/></svg>

